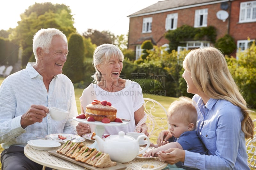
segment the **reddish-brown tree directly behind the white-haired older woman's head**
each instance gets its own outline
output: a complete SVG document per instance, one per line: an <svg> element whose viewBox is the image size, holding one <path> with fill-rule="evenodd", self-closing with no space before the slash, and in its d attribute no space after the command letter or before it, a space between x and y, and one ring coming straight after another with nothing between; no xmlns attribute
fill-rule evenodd
<svg viewBox="0 0 256 170"><path fill-rule="evenodd" d="M98 30L88 29L83 33L83 36L85 38L90 38L92 43L96 44L96 46L100 46L105 43L114 44L115 42L115 35L109 31L100 32Z"/></svg>

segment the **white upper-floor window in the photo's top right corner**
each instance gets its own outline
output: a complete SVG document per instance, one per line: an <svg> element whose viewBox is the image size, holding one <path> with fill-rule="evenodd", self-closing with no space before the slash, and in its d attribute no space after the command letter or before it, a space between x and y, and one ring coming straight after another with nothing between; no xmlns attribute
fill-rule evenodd
<svg viewBox="0 0 256 170"><path fill-rule="evenodd" d="M256 1L240 3L239 23L256 21Z"/></svg>

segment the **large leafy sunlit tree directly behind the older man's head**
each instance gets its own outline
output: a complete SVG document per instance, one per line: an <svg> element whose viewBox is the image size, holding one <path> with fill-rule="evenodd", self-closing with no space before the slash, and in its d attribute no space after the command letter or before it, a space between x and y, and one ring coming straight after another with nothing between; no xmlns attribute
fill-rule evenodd
<svg viewBox="0 0 256 170"><path fill-rule="evenodd" d="M74 18L71 10L65 4L35 3L20 15L21 21L10 34L12 43L20 45L23 49L22 66L26 66L33 55L33 35L41 28L57 28L67 37L76 32Z"/></svg>

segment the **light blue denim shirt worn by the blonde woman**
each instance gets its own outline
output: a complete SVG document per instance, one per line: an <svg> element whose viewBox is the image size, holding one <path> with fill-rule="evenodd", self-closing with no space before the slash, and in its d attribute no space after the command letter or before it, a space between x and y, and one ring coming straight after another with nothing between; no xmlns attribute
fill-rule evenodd
<svg viewBox="0 0 256 170"><path fill-rule="evenodd" d="M201 170L250 170L241 130L244 116L240 107L217 99L210 99L204 105L197 94L193 100L197 104L197 132L210 155L185 151L184 166Z"/></svg>

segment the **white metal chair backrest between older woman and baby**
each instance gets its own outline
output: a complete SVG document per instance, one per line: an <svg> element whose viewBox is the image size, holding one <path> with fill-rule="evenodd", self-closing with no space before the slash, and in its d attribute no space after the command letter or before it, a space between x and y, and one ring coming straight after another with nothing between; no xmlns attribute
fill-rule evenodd
<svg viewBox="0 0 256 170"><path fill-rule="evenodd" d="M147 114L146 124L150 141L156 141L162 130L168 129L167 111L158 101L144 98L144 111Z"/></svg>

